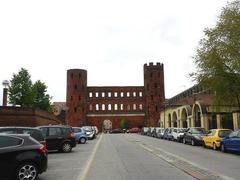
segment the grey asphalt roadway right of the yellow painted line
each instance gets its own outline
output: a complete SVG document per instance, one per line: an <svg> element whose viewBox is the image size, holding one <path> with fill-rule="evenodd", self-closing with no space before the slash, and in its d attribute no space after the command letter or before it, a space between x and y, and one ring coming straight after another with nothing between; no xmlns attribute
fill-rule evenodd
<svg viewBox="0 0 240 180"><path fill-rule="evenodd" d="M240 156L137 134L104 134L86 180L240 179Z"/></svg>

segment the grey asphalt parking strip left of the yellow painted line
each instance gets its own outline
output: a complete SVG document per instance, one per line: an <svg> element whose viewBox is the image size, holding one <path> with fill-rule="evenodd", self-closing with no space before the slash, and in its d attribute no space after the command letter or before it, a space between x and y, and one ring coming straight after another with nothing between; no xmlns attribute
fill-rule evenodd
<svg viewBox="0 0 240 180"><path fill-rule="evenodd" d="M99 138L99 137L98 137ZM39 180L80 179L97 139L86 144L78 144L70 153L50 152L47 172L39 175Z"/></svg>

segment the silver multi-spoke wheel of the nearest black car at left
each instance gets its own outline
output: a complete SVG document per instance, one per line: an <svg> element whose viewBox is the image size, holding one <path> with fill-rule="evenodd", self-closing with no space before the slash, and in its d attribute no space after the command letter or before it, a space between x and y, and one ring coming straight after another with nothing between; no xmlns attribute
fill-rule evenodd
<svg viewBox="0 0 240 180"><path fill-rule="evenodd" d="M25 180L25 179L36 180L37 177L38 177L38 168L34 163L24 162L20 166L18 166L16 170L17 180Z"/></svg>

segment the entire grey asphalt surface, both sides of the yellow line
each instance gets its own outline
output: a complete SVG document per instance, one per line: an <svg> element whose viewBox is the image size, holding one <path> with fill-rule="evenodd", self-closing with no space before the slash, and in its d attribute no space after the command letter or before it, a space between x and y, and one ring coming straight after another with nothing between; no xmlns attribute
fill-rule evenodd
<svg viewBox="0 0 240 180"><path fill-rule="evenodd" d="M240 156L138 134L103 134L49 153L38 180L240 179Z"/></svg>

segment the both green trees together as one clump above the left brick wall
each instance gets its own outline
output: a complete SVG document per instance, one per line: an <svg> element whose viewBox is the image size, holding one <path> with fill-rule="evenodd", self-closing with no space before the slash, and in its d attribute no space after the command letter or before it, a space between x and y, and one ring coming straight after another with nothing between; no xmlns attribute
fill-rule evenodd
<svg viewBox="0 0 240 180"><path fill-rule="evenodd" d="M34 107L51 111L51 97L46 94L47 86L40 80L32 84L29 72L21 68L10 80L9 101L21 107Z"/></svg>

